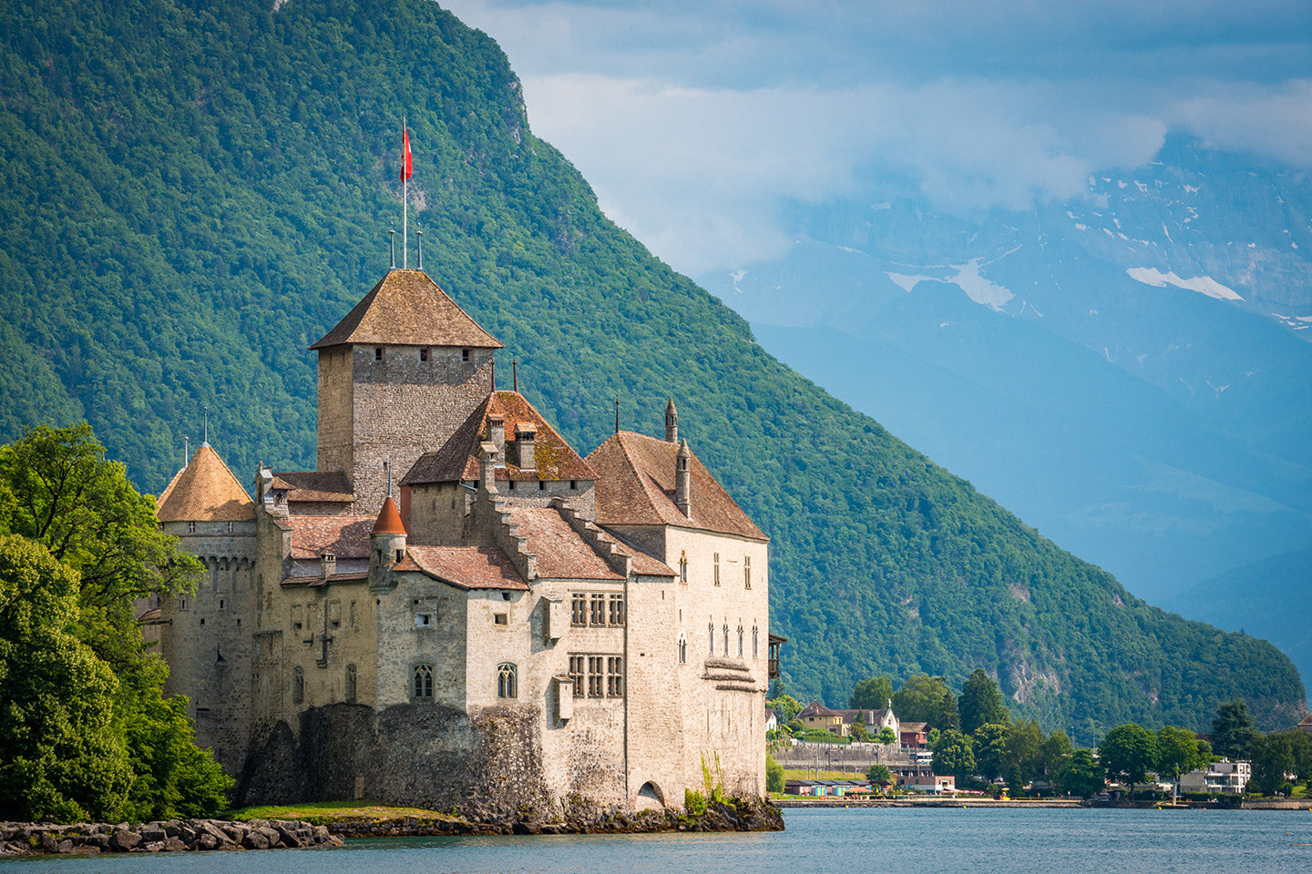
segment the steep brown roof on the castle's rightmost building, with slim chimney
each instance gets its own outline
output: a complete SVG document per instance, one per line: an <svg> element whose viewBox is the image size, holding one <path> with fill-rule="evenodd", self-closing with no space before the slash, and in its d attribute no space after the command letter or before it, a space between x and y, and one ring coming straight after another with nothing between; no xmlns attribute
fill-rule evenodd
<svg viewBox="0 0 1312 874"><path fill-rule="evenodd" d="M769 540L723 486L691 456L691 516L674 506L674 459L678 444L621 431L593 449L597 523L602 525L677 525Z"/></svg>

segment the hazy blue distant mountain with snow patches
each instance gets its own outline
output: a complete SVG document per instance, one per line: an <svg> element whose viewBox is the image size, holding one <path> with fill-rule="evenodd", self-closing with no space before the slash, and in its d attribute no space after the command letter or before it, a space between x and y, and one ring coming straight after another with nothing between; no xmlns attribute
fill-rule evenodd
<svg viewBox="0 0 1312 874"><path fill-rule="evenodd" d="M1176 596L1312 544L1305 174L1174 136L1027 212L900 197L790 221L787 256L703 284L1131 591L1203 618Z"/></svg>

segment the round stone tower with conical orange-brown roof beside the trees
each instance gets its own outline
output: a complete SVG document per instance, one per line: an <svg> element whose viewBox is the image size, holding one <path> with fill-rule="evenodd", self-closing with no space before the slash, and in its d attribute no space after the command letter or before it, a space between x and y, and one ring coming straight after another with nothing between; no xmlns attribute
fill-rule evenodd
<svg viewBox="0 0 1312 874"><path fill-rule="evenodd" d="M164 692L190 698L195 742L240 773L251 717L251 628L241 620L255 609L255 502L206 442L157 503L160 527L205 565L194 594L160 599Z"/></svg>

